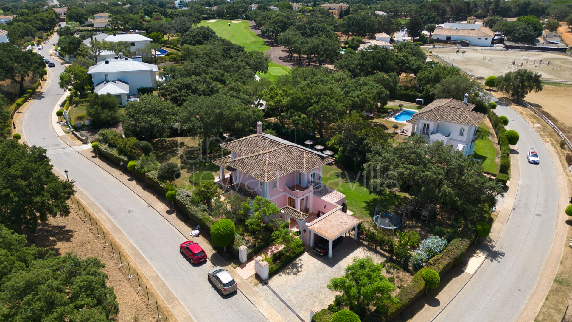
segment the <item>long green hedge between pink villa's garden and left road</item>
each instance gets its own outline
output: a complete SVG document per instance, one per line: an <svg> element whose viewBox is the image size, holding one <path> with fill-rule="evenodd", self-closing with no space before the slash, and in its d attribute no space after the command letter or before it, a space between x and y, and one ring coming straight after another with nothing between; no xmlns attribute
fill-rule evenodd
<svg viewBox="0 0 572 322"><path fill-rule="evenodd" d="M124 164L129 163L129 159L125 156L120 155L117 152L117 148L109 147L107 144L99 142L97 151L100 155L105 156L114 163L119 164L123 162ZM165 195L169 191L169 187L172 184L159 180L157 178L157 171L142 172L139 168L133 170L133 174L137 179L143 180L149 187L158 191L161 195ZM176 187L176 197L174 203L177 205L183 213L185 213L192 221L200 225L204 231L210 231L215 219L211 217L206 211L206 206L196 205L191 201L191 194L189 191ZM247 247L247 258L251 259L255 254L260 252L263 248L271 244L271 240L266 242L260 242L256 245L251 245L246 239L241 235L235 233L235 240L232 242L231 249L235 256L239 257L239 247ZM214 246L213 246L214 247Z"/></svg>

